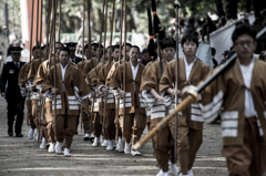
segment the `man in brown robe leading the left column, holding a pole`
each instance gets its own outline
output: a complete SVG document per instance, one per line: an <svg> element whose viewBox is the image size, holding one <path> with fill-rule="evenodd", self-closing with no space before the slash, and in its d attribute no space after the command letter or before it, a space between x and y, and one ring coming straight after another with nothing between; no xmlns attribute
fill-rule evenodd
<svg viewBox="0 0 266 176"><path fill-rule="evenodd" d="M63 48L60 51L60 64L57 64L57 77L54 80L54 66L48 72L42 84L42 92L45 96L55 96L53 101L53 117L55 118L57 145L55 153L60 154L62 143L64 143L64 156L71 156L70 146L76 130L76 118L79 116L79 104L85 108L84 100L89 96L89 89L81 71L70 64L70 50ZM55 85L54 85L55 81ZM57 108L57 114L54 114Z"/></svg>

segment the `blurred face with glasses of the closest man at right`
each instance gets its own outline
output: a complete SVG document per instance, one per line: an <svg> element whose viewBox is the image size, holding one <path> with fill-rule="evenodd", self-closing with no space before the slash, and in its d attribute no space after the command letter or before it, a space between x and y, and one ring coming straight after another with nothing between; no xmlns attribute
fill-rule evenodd
<svg viewBox="0 0 266 176"><path fill-rule="evenodd" d="M250 59L257 48L257 42L248 34L239 35L233 44L234 51L239 59Z"/></svg>

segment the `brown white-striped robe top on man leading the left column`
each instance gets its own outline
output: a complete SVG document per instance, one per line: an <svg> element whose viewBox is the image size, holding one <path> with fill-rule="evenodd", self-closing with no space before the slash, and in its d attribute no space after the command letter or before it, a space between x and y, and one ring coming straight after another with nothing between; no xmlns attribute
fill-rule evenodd
<svg viewBox="0 0 266 176"><path fill-rule="evenodd" d="M90 89L85 84L84 77L81 71L71 64L68 65L64 82L62 81L61 64L57 64L57 113L64 115L79 115L79 104L82 100L86 99L90 93ZM42 92L49 94L52 87L54 87L54 66L48 71L47 79L42 83ZM65 92L63 91L63 83ZM48 91L48 92L47 92ZM54 101L53 101L54 110ZM65 112L66 110L66 112Z"/></svg>

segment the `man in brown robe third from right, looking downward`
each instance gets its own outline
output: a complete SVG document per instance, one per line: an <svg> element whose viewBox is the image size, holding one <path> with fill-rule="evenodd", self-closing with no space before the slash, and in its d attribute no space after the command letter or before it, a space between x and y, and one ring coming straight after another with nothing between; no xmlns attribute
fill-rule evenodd
<svg viewBox="0 0 266 176"><path fill-rule="evenodd" d="M145 100L144 102L146 102L146 106L151 110L151 130L167 115L167 108L164 105L165 99L158 93L158 85L163 71L175 56L175 43L176 41L173 38L162 40L161 56L163 70L161 70L161 61L155 61L153 64L146 65L149 68L142 79L142 96ZM175 123L172 120L161 132L153 136L154 154L160 166L157 176L168 174L168 163L170 169L174 175L177 175L180 172L174 163L174 135Z"/></svg>

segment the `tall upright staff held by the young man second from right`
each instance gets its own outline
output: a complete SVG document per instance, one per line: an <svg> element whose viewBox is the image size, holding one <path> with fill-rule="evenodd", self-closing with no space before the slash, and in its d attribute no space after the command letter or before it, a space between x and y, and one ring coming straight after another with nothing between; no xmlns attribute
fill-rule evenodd
<svg viewBox="0 0 266 176"><path fill-rule="evenodd" d="M175 49L176 49L176 52L175 52L175 90L177 91L178 90L178 9L180 9L180 2L177 0L175 0L174 2L174 7L175 7L175 10L176 10L176 22L175 22L175 31L176 31L176 34L175 34L175 39L176 39L176 45L175 45ZM178 95L176 94L175 95L175 106L177 106L178 104ZM176 163L177 162L177 114L175 115L175 144L174 144L174 162Z"/></svg>

